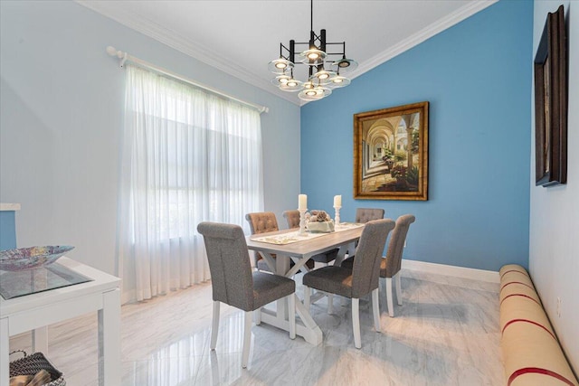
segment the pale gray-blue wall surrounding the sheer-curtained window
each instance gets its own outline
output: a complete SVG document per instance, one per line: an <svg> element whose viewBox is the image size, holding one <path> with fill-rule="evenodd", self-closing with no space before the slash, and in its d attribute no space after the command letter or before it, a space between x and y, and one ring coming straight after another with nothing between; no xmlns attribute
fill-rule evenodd
<svg viewBox="0 0 579 386"><path fill-rule="evenodd" d="M72 258L115 273L125 72L108 45L269 107L265 209L296 207L298 106L72 2L0 7L0 201L22 204L18 247L71 244Z"/></svg>

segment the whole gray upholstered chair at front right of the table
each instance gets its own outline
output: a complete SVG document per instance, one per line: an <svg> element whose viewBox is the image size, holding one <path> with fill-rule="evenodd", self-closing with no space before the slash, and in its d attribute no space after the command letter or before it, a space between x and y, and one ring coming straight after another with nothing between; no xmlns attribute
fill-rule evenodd
<svg viewBox="0 0 579 386"><path fill-rule="evenodd" d="M304 305L309 307L310 288L333 293L352 299L352 329L354 345L361 348L360 339L360 297L372 293L372 309L376 332L380 331L380 310L378 306L378 277L380 260L388 233L394 229L392 220L375 220L365 224L357 256L352 269L327 266L308 272L303 277Z"/></svg>

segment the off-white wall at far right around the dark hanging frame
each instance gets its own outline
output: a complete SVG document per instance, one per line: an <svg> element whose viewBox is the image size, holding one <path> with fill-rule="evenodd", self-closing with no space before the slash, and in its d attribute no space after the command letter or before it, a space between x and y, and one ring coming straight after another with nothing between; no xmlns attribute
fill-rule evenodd
<svg viewBox="0 0 579 386"><path fill-rule="evenodd" d="M529 268L547 315L575 373L579 372L579 2L535 1L533 47L546 14L565 6L569 38L569 112L567 184L535 186L535 151L531 159ZM532 103L529 100L529 103ZM535 110L533 109L533 127ZM534 128L529 130L535 148ZM557 297L561 316L557 315Z"/></svg>

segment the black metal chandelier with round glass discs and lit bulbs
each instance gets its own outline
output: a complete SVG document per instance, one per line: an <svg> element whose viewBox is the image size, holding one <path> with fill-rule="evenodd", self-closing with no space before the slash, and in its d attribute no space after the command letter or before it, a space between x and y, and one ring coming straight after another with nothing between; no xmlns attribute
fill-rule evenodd
<svg viewBox="0 0 579 386"><path fill-rule="evenodd" d="M346 87L350 80L342 74L356 69L358 63L346 59L346 42L326 42L326 30L314 33L314 1L310 0L309 42L289 41L289 47L280 43L280 58L270 61L268 68L277 76L271 82L283 91L299 91L302 100L318 100L327 97L332 89ZM297 47L307 49L296 54ZM341 47L341 52L327 52L327 46ZM299 61L296 61L299 56ZM334 58L334 59L332 59ZM308 80L294 78L297 64L308 66Z"/></svg>

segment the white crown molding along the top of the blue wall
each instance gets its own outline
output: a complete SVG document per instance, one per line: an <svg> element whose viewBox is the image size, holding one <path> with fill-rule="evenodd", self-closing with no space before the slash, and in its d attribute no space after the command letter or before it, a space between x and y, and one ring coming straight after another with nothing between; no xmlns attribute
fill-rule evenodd
<svg viewBox="0 0 579 386"><path fill-rule="evenodd" d="M451 28L451 26L455 24L459 24L461 21L469 18L473 14L476 14L497 2L498 0L480 0L460 7L453 13L439 19L437 22L422 28L421 31L414 33L413 35L404 39L402 42L399 42L384 52L380 52L367 61L360 63L356 71L350 72L350 78L354 79L367 71L375 69L375 67L379 66L380 64L393 59L403 52L410 50L421 42L424 42L432 38L432 36L441 33L448 28Z"/></svg>

